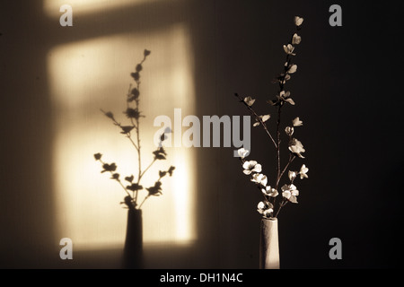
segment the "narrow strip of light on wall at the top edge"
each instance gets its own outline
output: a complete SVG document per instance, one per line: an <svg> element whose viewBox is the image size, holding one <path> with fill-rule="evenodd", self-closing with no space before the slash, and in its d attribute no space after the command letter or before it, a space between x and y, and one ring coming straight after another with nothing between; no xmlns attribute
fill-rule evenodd
<svg viewBox="0 0 404 287"><path fill-rule="evenodd" d="M51 17L60 17L60 7L64 4L72 6L78 15L99 13L111 9L125 8L134 4L150 3L154 0L44 0L44 11Z"/></svg>

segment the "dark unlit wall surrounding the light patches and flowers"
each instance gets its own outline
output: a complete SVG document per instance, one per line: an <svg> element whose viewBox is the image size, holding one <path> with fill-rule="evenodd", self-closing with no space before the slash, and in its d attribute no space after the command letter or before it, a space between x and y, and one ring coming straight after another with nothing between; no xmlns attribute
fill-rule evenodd
<svg viewBox="0 0 404 287"><path fill-rule="evenodd" d="M342 7L342 27L329 26L331 4ZM281 267L401 267L402 4L172 0L146 2L141 13L129 6L74 19L72 28L48 19L41 1L2 1L0 11L1 267L119 267L118 250L82 253L71 262L58 258L49 48L83 33L188 22L197 116L247 115L233 93L264 102L277 92L270 80L282 69L294 15L305 20L294 58L298 72L288 83L297 104L285 117L303 118L299 139L310 171L299 185L300 203L279 215ZM262 130L253 129L251 149L266 170L275 168ZM197 200L196 244L145 250L146 267L258 268L260 196L242 176L233 149L198 149ZM342 240L342 260L329 259L334 237Z"/></svg>

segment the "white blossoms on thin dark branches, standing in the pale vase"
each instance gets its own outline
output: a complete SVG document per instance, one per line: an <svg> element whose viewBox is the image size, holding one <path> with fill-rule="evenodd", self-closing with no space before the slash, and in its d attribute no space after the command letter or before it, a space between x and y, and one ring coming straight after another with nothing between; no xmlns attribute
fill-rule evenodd
<svg viewBox="0 0 404 287"><path fill-rule="evenodd" d="M285 90L285 84L287 81L291 79L291 75L297 71L297 65L292 62L293 57L296 55L294 53L294 49L296 45L299 45L302 38L297 34L299 30L301 30L303 23L303 18L295 16L294 17L294 25L296 31L294 32L292 38L289 42L283 46L286 60L284 65L284 71L277 75L277 78L272 81L272 83L277 83L279 86L279 91L277 92L276 99L268 100L268 104L277 109L277 124L276 124L276 136L273 136L267 126L268 120L271 118L269 114L259 115L256 110L253 108L255 99L251 97L242 97L237 93L236 97L240 99L240 101L249 109L252 117L255 118L256 122L253 126L262 126L262 128L267 133L271 143L275 146L276 157L277 157L277 175L273 184L268 184L268 177L264 175L262 172L262 166L257 161L246 161L246 157L249 155L250 151L241 148L238 150L238 154L242 161L243 173L250 177L250 181L254 182L259 188L259 192L262 193L264 199L259 202L257 206L257 210L264 218L277 218L278 213L281 208L285 206L287 203L297 204L297 196L299 196L299 190L294 185L294 180L296 178L308 178L307 172L309 169L303 164L299 171L297 170L288 170L291 163L296 159L304 159L303 152L305 149L303 148L303 144L301 141L294 137L294 132L296 127L303 126L303 121L300 117L295 117L289 125L281 127L281 112L285 105L294 106L294 100L291 98L291 92ZM285 166L282 167L281 164L281 134L285 134L287 137L287 149L289 152L289 159L285 163ZM287 176L289 179L288 183L285 183L282 187L280 187L281 179L285 175L287 171ZM279 187L282 192L282 198L280 201L277 201L279 196Z"/></svg>

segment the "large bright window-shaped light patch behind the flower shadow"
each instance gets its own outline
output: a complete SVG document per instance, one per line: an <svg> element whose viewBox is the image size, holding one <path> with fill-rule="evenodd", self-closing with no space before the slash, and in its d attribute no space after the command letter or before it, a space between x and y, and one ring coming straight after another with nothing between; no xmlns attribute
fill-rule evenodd
<svg viewBox="0 0 404 287"><path fill-rule="evenodd" d="M119 204L123 188L101 174L102 160L116 162L121 178L136 175L136 150L100 109L112 111L122 124L127 120L126 94L130 73L147 57L141 73L140 105L143 168L153 161L154 118L173 109L195 114L192 57L187 30L176 25L160 32L119 34L59 46L48 54L48 74L53 101L56 138L54 178L57 194L57 230L60 238L73 239L75 248L122 245L127 210ZM173 177L162 178L160 197L142 207L144 239L148 242L189 242L196 239L194 218L195 160L189 148L167 148L167 161L158 161L142 178L151 187L158 170L174 165ZM146 191L144 190L144 194Z"/></svg>

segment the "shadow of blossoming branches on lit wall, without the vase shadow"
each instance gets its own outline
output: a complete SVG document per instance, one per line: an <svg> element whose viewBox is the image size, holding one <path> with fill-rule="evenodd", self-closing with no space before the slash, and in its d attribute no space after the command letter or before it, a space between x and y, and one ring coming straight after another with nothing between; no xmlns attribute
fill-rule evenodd
<svg viewBox="0 0 404 287"><path fill-rule="evenodd" d="M162 142L166 139L165 134L160 136L160 143L157 149L153 152L153 160L149 163L149 165L142 169L142 154L141 154L141 145L140 145L140 118L145 117L140 111L140 72L143 70L143 64L146 58L150 55L150 51L145 49L143 60L136 65L136 71L131 73L131 77L135 80L136 86L132 87L132 84L129 85L129 90L127 91L127 109L123 112L127 118L127 125L122 125L112 114L112 112L105 112L101 109L101 112L109 117L114 126L118 126L120 130L120 134L125 135L127 139L132 143L137 152L137 176L132 174L124 178L127 182L125 185L120 179L120 175L117 170L117 164L115 162L107 163L101 160L102 154L100 152L94 154L94 159L96 161L100 161L102 164L101 173L109 172L111 175L111 179L116 180L119 183L119 186L123 188L126 192L127 196L121 204L126 204L129 210L140 210L142 205L145 203L145 200L150 198L151 196L161 196L162 195L162 178L166 175L171 177L173 170L175 167L171 166L168 170L159 170L157 180L154 182L154 185L151 187L146 187L147 194L143 196L143 200L140 204L139 202L139 193L144 190L144 187L141 185L141 179L145 176L147 170L149 170L156 161L166 160L167 152L162 147ZM135 131L135 136L133 135L133 131ZM167 132L167 131L166 131Z"/></svg>

